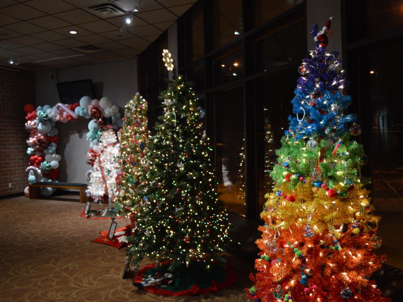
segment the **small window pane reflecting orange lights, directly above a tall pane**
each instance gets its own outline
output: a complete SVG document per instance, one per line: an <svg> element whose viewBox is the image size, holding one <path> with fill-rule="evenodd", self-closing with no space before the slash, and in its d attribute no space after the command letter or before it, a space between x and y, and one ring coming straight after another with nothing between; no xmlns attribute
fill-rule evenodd
<svg viewBox="0 0 403 302"><path fill-rule="evenodd" d="M243 75L243 53L240 47L214 60L214 83L216 86L236 81Z"/></svg>

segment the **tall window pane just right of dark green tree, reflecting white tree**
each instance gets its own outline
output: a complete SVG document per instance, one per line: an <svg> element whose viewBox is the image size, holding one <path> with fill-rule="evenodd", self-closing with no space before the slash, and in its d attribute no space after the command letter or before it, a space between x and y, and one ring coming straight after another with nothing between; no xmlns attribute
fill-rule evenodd
<svg viewBox="0 0 403 302"><path fill-rule="evenodd" d="M231 110L228 110L231 108ZM245 216L243 88L215 95L216 174L220 199Z"/></svg>

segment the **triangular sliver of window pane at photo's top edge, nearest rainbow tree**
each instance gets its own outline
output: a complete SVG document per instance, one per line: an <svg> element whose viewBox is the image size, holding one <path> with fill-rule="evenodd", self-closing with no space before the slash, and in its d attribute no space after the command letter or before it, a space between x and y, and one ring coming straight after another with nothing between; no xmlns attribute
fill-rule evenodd
<svg viewBox="0 0 403 302"><path fill-rule="evenodd" d="M260 26L302 3L303 0L255 0L255 26Z"/></svg>

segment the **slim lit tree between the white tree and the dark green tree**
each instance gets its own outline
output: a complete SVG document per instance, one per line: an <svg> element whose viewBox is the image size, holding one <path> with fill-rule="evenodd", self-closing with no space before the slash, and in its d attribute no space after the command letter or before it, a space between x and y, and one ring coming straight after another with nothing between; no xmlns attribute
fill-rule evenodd
<svg viewBox="0 0 403 302"><path fill-rule="evenodd" d="M146 169L147 101L137 93L125 106L120 136L119 163L122 171L115 198L115 208L120 213L131 215L136 210L136 190L139 178Z"/></svg>

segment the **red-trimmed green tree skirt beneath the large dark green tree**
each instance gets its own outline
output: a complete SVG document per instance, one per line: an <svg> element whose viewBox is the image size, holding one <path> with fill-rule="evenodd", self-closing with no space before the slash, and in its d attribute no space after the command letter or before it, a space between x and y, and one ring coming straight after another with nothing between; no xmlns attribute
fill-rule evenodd
<svg viewBox="0 0 403 302"><path fill-rule="evenodd" d="M150 276L163 276L167 272L169 261L163 262L159 269L155 268L155 264L149 264L137 272L133 285L149 292L161 295L182 296L207 294L209 292L226 288L236 282L237 277L232 265L229 262L227 262L225 265L226 267L222 267L219 264L213 264L211 265L210 272L206 272L204 265L193 263L192 267L192 263L190 263L189 269L186 269L184 265L182 267L175 268L171 279L166 279L159 284L154 284L151 286L139 286L139 283ZM205 274L205 276L202 277L203 282L201 283L205 284L196 284L195 282L192 283L192 276L197 277L203 274ZM185 282L182 282L180 280L181 278L184 279ZM206 282L206 278L209 280L208 282ZM172 280L172 282L168 283L170 280Z"/></svg>

